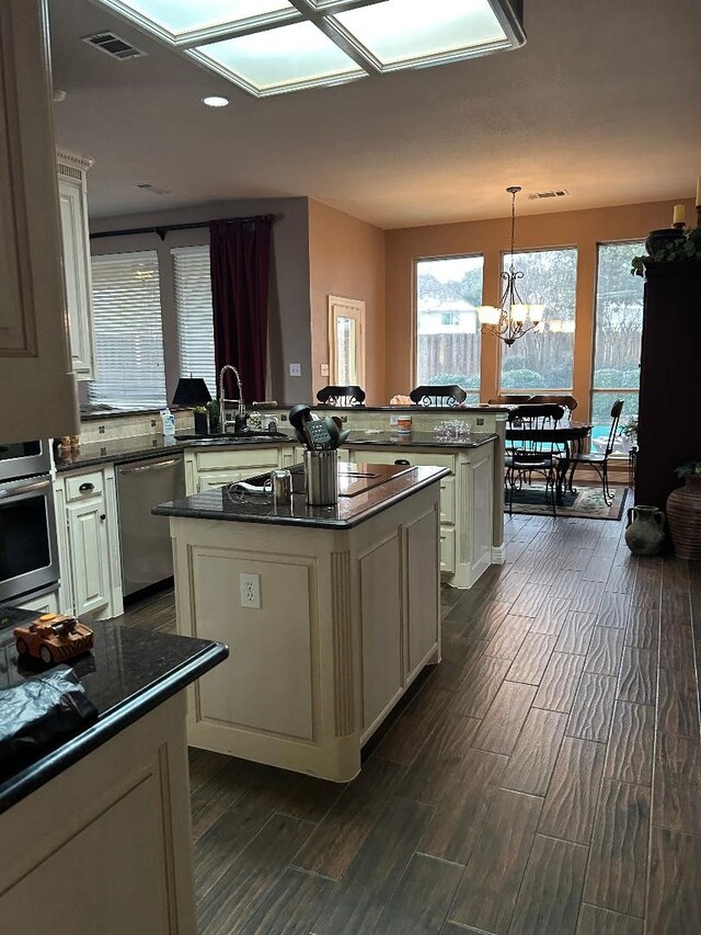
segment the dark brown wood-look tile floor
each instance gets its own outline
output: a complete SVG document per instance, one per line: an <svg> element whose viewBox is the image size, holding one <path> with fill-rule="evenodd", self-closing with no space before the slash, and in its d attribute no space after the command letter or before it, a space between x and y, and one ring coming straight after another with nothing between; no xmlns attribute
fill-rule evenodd
<svg viewBox="0 0 701 935"><path fill-rule="evenodd" d="M353 783L192 751L203 935L701 933L701 563L505 529Z"/></svg>

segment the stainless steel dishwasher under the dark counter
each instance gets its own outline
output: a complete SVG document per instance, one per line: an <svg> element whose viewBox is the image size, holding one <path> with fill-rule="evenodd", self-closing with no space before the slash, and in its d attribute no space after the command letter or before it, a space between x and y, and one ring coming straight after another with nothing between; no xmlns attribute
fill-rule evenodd
<svg viewBox="0 0 701 935"><path fill-rule="evenodd" d="M151 510L185 495L182 455L117 464L124 596L173 575L170 522Z"/></svg>

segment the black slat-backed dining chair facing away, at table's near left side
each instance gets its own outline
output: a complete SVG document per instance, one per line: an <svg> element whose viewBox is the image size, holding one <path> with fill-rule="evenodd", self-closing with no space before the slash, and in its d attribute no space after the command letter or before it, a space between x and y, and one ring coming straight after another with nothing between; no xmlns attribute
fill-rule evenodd
<svg viewBox="0 0 701 935"><path fill-rule="evenodd" d="M555 487L560 453L552 430L558 427L563 415L563 407L555 403L526 403L516 406L508 413L504 484L509 516L513 513L517 481L519 488L522 487L525 477L530 483L533 474L542 474L545 480L545 504L550 503L552 515L558 515ZM524 437L518 437L519 432L522 432Z"/></svg>

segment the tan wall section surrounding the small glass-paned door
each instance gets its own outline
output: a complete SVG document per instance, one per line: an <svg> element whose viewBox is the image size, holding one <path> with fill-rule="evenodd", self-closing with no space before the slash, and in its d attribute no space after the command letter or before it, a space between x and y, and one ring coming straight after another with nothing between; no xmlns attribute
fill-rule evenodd
<svg viewBox="0 0 701 935"><path fill-rule="evenodd" d="M329 384L330 295L365 301L367 402L387 402L384 387L384 231L310 198L312 390Z"/></svg>

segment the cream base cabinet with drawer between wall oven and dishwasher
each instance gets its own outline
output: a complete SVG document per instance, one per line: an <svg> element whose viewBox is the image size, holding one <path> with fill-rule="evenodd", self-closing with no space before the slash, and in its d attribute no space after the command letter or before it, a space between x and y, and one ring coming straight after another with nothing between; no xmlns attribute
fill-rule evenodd
<svg viewBox="0 0 701 935"><path fill-rule="evenodd" d="M123 611L114 468L58 475L59 609L110 619Z"/></svg>

